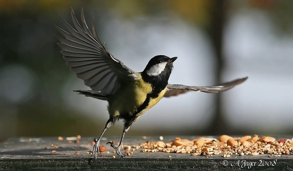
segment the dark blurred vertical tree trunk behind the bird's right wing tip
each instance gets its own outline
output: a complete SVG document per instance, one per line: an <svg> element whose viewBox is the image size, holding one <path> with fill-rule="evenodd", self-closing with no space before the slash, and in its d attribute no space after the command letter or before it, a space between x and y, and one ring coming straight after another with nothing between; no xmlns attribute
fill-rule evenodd
<svg viewBox="0 0 293 171"><path fill-rule="evenodd" d="M215 51L215 61L216 61L216 78L215 83L222 82L222 71L224 66L224 57L222 53L223 47L223 27L225 23L225 16L226 16L226 9L225 6L227 5L228 1L224 0L215 0L212 1L210 6L211 12L211 20L209 22L208 27L208 34L210 36L210 40L214 47ZM209 129L207 134L215 135L215 134L227 134L228 127L227 123L224 119L224 115L222 112L222 95L221 93L215 94L215 112L212 115L212 122L209 125Z"/></svg>

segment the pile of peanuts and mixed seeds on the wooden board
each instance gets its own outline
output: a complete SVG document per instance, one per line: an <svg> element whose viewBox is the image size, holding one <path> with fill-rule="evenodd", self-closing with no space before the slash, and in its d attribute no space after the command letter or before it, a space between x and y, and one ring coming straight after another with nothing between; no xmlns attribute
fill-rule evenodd
<svg viewBox="0 0 293 171"><path fill-rule="evenodd" d="M165 143L163 141L141 143L142 152L166 152L166 153L190 153L191 155L222 155L231 157L234 155L259 155L270 154L292 155L293 138L276 140L270 136L258 135L231 137L222 135L218 139L200 137L194 140L175 138L174 141Z"/></svg>

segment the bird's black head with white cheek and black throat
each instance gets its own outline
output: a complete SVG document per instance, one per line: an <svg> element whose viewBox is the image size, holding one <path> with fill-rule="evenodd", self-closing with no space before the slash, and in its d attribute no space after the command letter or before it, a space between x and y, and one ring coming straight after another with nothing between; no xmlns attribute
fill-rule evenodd
<svg viewBox="0 0 293 171"><path fill-rule="evenodd" d="M173 62L177 57L169 58L157 55L149 60L144 71L141 72L142 79L153 86L154 97L166 88L173 68Z"/></svg>

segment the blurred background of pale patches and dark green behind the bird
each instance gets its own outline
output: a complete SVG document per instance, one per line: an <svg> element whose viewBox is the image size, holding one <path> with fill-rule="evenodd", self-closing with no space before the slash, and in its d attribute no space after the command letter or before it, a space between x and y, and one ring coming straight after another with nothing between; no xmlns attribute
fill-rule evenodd
<svg viewBox="0 0 293 171"><path fill-rule="evenodd" d="M98 136L106 102L77 95L54 28L84 8L107 49L135 71L158 54L177 56L169 83L214 85L217 60L209 26L215 1L0 0L0 140L11 136ZM221 94L225 130L293 133L293 1L223 1L222 82L249 76ZM163 98L128 135L214 134L215 94ZM212 128L212 129L211 129ZM207 131L209 130L209 131ZM119 122L105 136L122 133Z"/></svg>

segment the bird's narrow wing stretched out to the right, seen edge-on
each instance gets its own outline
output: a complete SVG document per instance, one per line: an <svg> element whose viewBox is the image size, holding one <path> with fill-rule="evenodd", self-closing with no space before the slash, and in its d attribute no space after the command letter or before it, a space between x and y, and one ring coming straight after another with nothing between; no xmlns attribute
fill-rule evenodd
<svg viewBox="0 0 293 171"><path fill-rule="evenodd" d="M238 78L236 80L223 83L222 85L217 86L188 86L188 85L180 85L180 84L168 84L168 91L165 93L164 97L176 96L182 93L186 93L188 91L192 92L205 92L205 93L219 93L222 91L229 90L234 86L243 83L248 77Z"/></svg>

